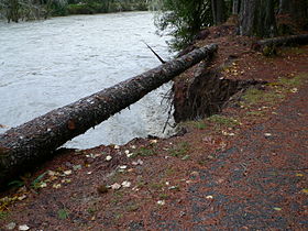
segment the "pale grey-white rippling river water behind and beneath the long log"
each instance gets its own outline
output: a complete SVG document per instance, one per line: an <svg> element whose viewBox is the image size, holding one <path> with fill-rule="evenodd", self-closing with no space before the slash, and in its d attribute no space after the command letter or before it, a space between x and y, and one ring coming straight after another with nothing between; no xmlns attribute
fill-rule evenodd
<svg viewBox="0 0 308 231"><path fill-rule="evenodd" d="M170 56L155 34L151 12L0 22L0 124L16 127L121 80L151 69ZM134 138L162 134L167 114L162 95L170 85L68 142L86 148L123 144ZM6 129L0 129L4 132Z"/></svg>

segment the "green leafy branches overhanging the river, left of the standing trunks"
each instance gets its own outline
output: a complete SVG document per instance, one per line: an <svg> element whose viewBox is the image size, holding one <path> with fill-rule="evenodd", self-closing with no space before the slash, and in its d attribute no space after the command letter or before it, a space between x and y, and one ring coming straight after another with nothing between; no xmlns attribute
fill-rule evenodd
<svg viewBox="0 0 308 231"><path fill-rule="evenodd" d="M210 0L164 0L155 19L162 32L173 36L169 45L179 51L189 45L197 33L212 24Z"/></svg>

